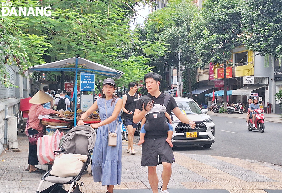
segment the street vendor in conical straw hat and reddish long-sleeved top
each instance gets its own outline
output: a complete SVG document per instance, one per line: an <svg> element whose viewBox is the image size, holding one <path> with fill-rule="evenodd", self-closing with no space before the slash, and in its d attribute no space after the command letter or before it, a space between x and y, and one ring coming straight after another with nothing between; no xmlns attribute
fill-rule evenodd
<svg viewBox="0 0 282 193"><path fill-rule="evenodd" d="M29 109L28 119L26 123L25 128L25 134L27 136L29 135L35 135L38 133L43 133L44 126L41 124L40 119L38 119L39 115L46 115L46 114L59 114L60 117L64 116L58 111L55 111L53 109L45 109L43 107L43 104L50 102L53 100L53 97L46 94L42 90L39 90L34 96L29 100L29 103L32 103L33 105ZM45 170L36 168L35 165L38 164L37 159L37 146L32 145L29 142L29 159L28 159L28 168L26 171L29 171L30 173L45 173Z"/></svg>

